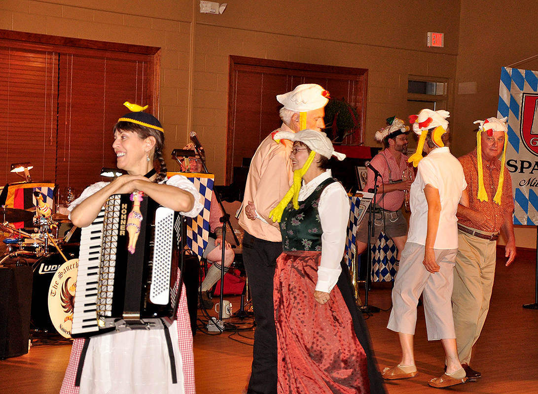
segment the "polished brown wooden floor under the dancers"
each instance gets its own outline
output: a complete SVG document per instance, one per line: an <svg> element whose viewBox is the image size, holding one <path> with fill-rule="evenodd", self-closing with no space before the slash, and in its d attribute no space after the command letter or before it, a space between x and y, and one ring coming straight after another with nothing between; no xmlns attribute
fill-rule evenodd
<svg viewBox="0 0 538 394"><path fill-rule="evenodd" d="M498 250L504 256L504 250ZM511 267L498 259L491 309L482 336L475 346L471 366L482 372L477 382L447 389L459 393L538 393L538 310L523 309L534 303L536 254L519 250ZM390 313L390 285L374 284L369 304L381 312L367 317L379 367L398 363L397 335L386 328ZM361 290L364 300L364 290ZM237 311L239 297L228 297ZM213 312L213 316L216 316ZM199 316L207 325L207 318ZM222 334L198 331L194 337L194 362L198 394L239 394L246 383L252 361L252 319L227 319L241 331ZM0 361L0 393L53 394L60 389L70 344L54 342L58 336L37 335L26 355ZM439 341L426 340L424 314L419 307L415 334L415 357L419 375L405 381L387 382L390 394L432 393L427 381L442 374L443 350ZM314 393L315 394L315 393Z"/></svg>

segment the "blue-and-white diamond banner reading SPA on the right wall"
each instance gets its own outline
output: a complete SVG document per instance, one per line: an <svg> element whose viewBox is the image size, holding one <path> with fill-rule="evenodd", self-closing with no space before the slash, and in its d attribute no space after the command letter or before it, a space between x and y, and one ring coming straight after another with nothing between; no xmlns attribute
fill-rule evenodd
<svg viewBox="0 0 538 394"><path fill-rule="evenodd" d="M538 225L538 71L503 67L497 117L508 117L514 224Z"/></svg>

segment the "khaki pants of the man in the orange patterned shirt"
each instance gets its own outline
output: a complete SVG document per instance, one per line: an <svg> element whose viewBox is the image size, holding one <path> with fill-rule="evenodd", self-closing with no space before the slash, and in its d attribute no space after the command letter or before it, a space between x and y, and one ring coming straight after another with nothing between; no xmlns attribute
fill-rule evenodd
<svg viewBox="0 0 538 394"><path fill-rule="evenodd" d="M458 231L452 314L459 361L469 365L471 349L490 309L497 242Z"/></svg>

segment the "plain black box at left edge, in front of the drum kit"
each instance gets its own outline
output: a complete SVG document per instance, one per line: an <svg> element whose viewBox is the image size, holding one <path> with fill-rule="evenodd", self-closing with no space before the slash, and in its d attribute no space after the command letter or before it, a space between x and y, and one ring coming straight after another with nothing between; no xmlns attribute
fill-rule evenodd
<svg viewBox="0 0 538 394"><path fill-rule="evenodd" d="M32 267L0 268L0 359L28 353Z"/></svg>

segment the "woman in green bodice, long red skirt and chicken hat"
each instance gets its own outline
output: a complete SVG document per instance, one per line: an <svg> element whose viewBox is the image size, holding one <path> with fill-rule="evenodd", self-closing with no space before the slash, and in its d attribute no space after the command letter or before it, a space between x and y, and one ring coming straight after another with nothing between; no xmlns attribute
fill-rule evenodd
<svg viewBox="0 0 538 394"><path fill-rule="evenodd" d="M341 263L350 200L326 168L332 155L345 155L322 132L281 131L273 139L294 141L294 184L271 211L284 249L273 292L278 393L385 393L348 267Z"/></svg>

